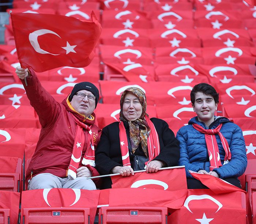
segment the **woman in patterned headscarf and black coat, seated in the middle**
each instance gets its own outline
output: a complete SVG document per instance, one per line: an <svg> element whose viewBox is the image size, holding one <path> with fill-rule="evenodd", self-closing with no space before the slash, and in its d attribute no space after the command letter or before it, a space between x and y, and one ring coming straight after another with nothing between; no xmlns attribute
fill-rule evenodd
<svg viewBox="0 0 256 224"><path fill-rule="evenodd" d="M133 175L134 170L154 173L161 167L176 166L180 158L179 142L165 121L148 118L144 92L134 87L126 89L121 95L120 107L120 122L102 130L95 152L99 173L120 173L125 177ZM143 162L140 163L140 159ZM111 188L110 177L102 181L103 189Z"/></svg>

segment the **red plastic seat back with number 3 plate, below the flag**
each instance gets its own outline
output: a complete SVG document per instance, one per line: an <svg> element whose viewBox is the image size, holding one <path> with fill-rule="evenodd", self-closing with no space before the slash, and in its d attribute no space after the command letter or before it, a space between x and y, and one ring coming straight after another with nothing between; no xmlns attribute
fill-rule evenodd
<svg viewBox="0 0 256 224"><path fill-rule="evenodd" d="M167 208L160 207L102 207L99 209L99 224L164 224L167 223Z"/></svg>

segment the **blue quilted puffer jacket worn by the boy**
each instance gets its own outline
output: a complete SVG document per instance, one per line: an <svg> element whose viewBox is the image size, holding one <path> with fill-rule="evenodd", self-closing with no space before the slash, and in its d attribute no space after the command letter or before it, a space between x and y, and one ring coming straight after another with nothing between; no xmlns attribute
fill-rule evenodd
<svg viewBox="0 0 256 224"><path fill-rule="evenodd" d="M185 165L187 177L193 178L188 170L210 171L210 161L206 146L204 134L193 128L192 124L196 123L202 126L204 129L208 129L203 122L200 122L197 117L193 117L189 120L188 125L180 128L177 132L176 138L180 141L180 160L178 164L180 166ZM229 177L241 176L247 166L247 157L245 150L244 137L242 130L238 125L232 123L226 117L215 117L214 122L211 123L209 129L216 128L222 123L221 133L229 143L231 160L229 163L223 165L225 158L225 151L221 144L219 135L215 135L219 146L219 154L221 163L223 166L214 169L218 173L219 178L225 179Z"/></svg>

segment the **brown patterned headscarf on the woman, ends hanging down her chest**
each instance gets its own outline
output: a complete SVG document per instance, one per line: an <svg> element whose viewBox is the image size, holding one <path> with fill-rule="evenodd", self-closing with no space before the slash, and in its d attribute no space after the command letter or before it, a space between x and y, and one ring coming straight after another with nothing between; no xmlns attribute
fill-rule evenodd
<svg viewBox="0 0 256 224"><path fill-rule="evenodd" d="M131 92L136 97L138 97L140 104L142 105L142 114L139 117L139 119L135 121L129 121L127 118L123 115L123 104L124 104L124 98L125 94L127 92ZM135 87L130 87L126 90L124 90L121 99L120 99L120 120L122 121L128 121L129 124L129 133L130 133L130 142L132 146L132 152L134 153L136 149L139 146L139 143L141 143L142 151L148 157L148 151L147 151L147 138L150 135L150 127L147 124L147 121L144 119L146 115L146 109L147 109L147 101L145 93Z"/></svg>

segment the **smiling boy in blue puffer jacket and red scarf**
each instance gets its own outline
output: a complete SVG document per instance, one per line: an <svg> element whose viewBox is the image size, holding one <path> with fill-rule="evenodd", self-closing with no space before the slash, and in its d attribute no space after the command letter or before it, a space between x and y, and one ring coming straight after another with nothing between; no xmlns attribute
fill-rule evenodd
<svg viewBox="0 0 256 224"><path fill-rule="evenodd" d="M188 189L207 188L188 170L213 175L241 188L237 177L247 166L241 128L226 117L214 116L219 94L211 85L195 85L190 97L197 116L176 136L180 141L179 165L185 165Z"/></svg>

